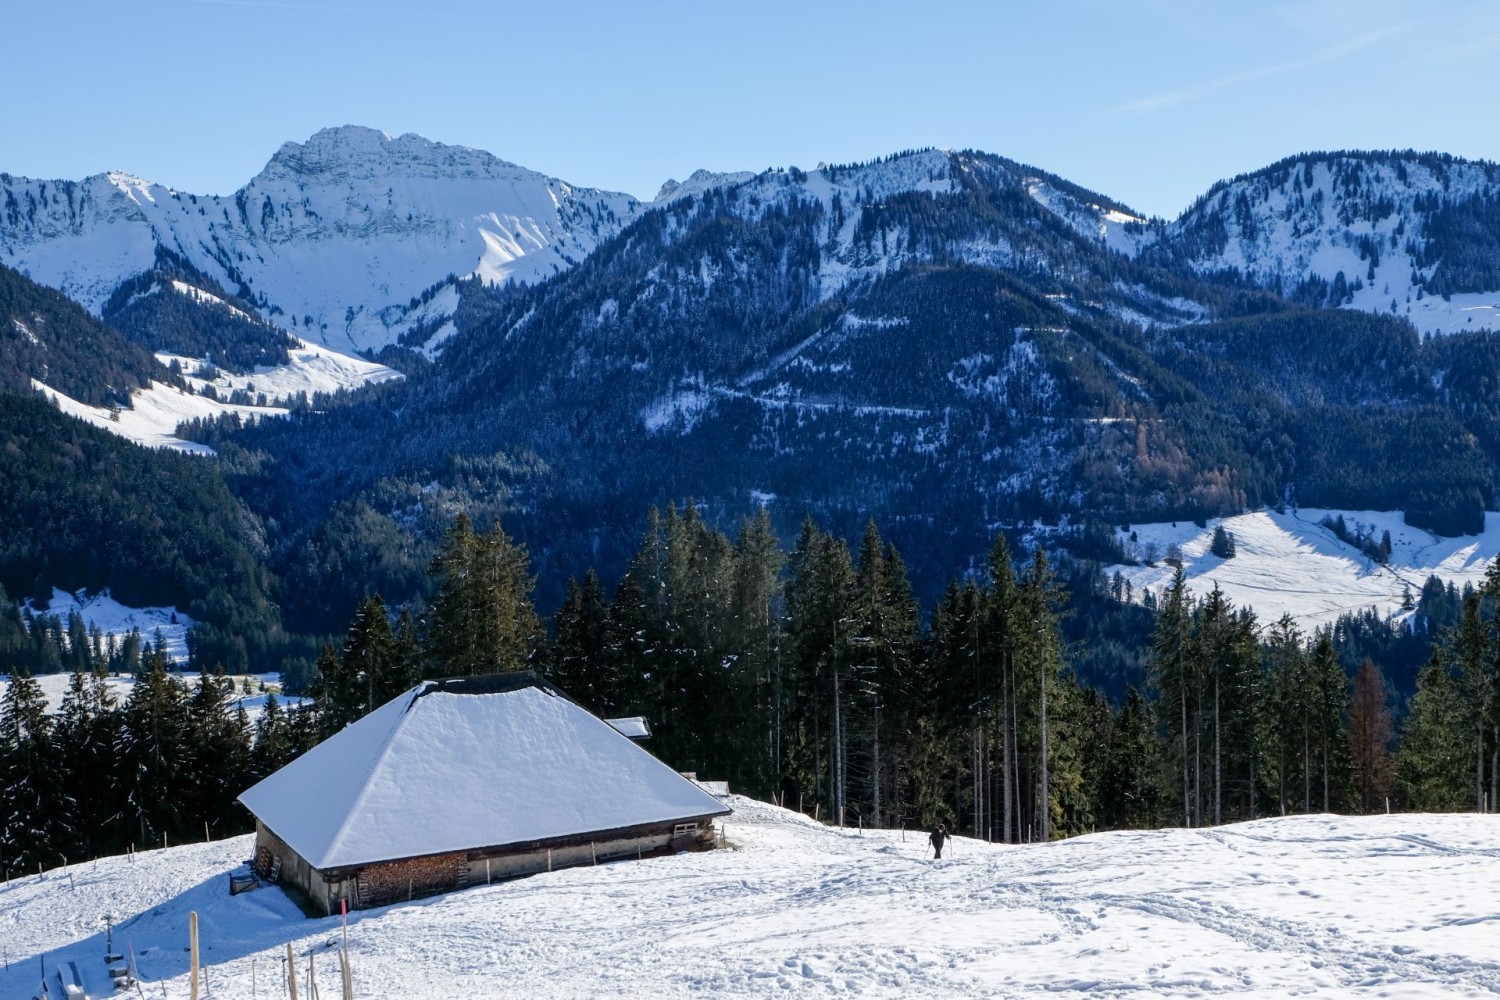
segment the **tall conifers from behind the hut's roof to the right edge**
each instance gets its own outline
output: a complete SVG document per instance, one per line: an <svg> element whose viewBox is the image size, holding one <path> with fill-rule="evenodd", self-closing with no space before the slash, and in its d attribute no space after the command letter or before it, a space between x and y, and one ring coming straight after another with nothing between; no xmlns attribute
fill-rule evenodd
<svg viewBox="0 0 1500 1000"><path fill-rule="evenodd" d="M326 718L357 718L422 675L531 667L600 715L650 718L652 750L681 769L846 823L942 819L1008 841L1494 805L1470 793L1474 762L1488 784L1500 774L1486 666L1500 661L1500 576L1462 594L1430 580L1410 624L1344 616L1305 634L1218 591L1194 597L1180 571L1125 607L1110 607L1107 580L1074 586L1080 622L1041 550L1012 562L1000 535L981 565L922 615L873 523L852 550L808 522L784 552L764 511L729 537L694 505L669 507L618 586L592 571L570 582L544 634L524 550L460 522L432 610L393 627L369 598L315 690ZM459 580L477 589L459 598ZM1080 679L1095 646L1134 649L1142 628L1138 684L1108 697ZM1407 687L1418 655L1398 711L1372 657Z"/></svg>

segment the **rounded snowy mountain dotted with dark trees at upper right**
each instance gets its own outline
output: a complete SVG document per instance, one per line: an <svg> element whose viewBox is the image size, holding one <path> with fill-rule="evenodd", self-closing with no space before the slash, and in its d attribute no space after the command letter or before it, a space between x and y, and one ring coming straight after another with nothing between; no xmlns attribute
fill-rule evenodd
<svg viewBox="0 0 1500 1000"><path fill-rule="evenodd" d="M1424 333L1500 330L1500 165L1414 153L1308 154L1215 184L1156 253L1236 270L1329 304L1407 316ZM1322 303L1318 303L1322 304Z"/></svg>

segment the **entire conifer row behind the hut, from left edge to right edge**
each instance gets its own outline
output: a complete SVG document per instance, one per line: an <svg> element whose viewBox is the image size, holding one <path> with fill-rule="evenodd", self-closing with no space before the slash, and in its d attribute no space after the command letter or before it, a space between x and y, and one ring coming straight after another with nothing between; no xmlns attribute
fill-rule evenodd
<svg viewBox="0 0 1500 1000"><path fill-rule="evenodd" d="M856 549L807 522L786 552L765 511L730 537L693 504L668 507L652 510L620 583L606 592L592 571L570 582L549 630L525 547L498 522L478 532L460 516L430 564L432 601L393 615L368 597L342 649L285 678L308 705L268 699L254 726L220 672L184 684L159 643L141 651L124 705L105 687L110 660L63 661L74 675L57 717L16 670L0 702L0 864L33 871L195 840L204 825L240 832L244 787L422 678L516 669L603 717L646 717L652 751L675 768L846 825L940 820L1017 843L1496 807L1500 570L1462 594L1424 588L1422 606L1449 624L1398 726L1380 666L1344 663L1407 655L1389 621L1264 625L1216 589L1194 597L1179 570L1120 619L1154 615L1143 681L1110 699L1080 681L1092 654L1066 639L1118 643L1140 628L1098 624L1110 585L1089 591L1080 627L1041 549L1017 561L1002 534L981 565L924 616L873 522ZM81 622L62 631L63 655L98 648Z"/></svg>

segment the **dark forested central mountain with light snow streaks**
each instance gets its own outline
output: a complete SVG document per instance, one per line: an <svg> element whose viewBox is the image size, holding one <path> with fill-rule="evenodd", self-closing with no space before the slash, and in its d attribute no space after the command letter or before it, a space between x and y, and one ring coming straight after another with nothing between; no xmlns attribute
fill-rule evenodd
<svg viewBox="0 0 1500 1000"><path fill-rule="evenodd" d="M1293 498L1474 523L1494 439L1408 322L1131 258L1149 235L1131 217L980 153L708 186L549 282L466 288L438 364L246 432L302 457L237 481L314 538L330 516L400 535L422 489L480 501L543 579L622 565L668 498L730 519L768 502L783 532L873 516L926 553L926 594L1034 519Z"/></svg>

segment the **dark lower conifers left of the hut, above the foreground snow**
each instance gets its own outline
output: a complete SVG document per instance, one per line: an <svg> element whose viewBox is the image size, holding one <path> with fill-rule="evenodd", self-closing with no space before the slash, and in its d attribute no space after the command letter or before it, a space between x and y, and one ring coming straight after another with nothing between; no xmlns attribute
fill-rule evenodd
<svg viewBox="0 0 1500 1000"><path fill-rule="evenodd" d="M104 672L75 670L56 715L34 678L10 675L0 699L6 877L243 834L236 796L318 742L312 712L267 694L252 724L222 670L188 684L170 666L152 645L124 703Z"/></svg>

